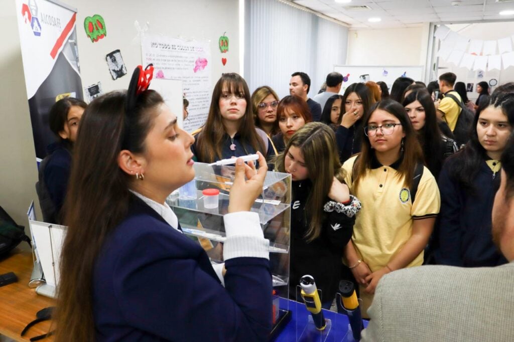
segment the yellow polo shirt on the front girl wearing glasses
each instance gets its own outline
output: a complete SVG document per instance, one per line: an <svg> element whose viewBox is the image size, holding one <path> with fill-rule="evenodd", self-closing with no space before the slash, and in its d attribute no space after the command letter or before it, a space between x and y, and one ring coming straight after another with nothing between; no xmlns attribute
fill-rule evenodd
<svg viewBox="0 0 514 342"><path fill-rule="evenodd" d="M374 159L372 168L360 180L356 192L351 176L356 158L354 156L343 164L350 193L362 203L362 209L356 216L352 241L359 258L368 264L371 272L375 272L386 267L411 237L414 220L437 216L439 189L434 176L425 167L412 203L410 191L403 185L405 177L399 177L396 170L400 162L383 166ZM422 263L423 252L407 267ZM360 296L365 313L373 296L366 294L362 287Z"/></svg>

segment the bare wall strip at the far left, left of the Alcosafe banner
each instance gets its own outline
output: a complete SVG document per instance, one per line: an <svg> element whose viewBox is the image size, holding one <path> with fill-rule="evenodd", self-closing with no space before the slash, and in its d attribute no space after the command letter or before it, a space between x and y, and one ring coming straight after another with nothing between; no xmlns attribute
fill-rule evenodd
<svg viewBox="0 0 514 342"><path fill-rule="evenodd" d="M17 32L18 11L14 1L3 1L0 8L2 23L9 28L0 53L0 205L28 232L26 213L30 201L37 198L38 171Z"/></svg>

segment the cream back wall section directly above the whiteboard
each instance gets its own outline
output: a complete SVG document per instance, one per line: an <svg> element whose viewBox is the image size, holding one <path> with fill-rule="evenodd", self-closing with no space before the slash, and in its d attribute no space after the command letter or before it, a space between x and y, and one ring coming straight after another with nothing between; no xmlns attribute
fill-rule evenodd
<svg viewBox="0 0 514 342"><path fill-rule="evenodd" d="M347 65L425 65L429 24L348 33Z"/></svg>

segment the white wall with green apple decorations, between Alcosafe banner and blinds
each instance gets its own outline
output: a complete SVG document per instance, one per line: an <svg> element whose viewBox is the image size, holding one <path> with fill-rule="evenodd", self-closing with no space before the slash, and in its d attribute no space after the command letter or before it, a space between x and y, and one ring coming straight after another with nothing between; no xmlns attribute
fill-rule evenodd
<svg viewBox="0 0 514 342"><path fill-rule="evenodd" d="M82 84L100 81L104 91L126 89L134 67L141 64L141 45L138 31L148 23L149 34L162 34L183 39L210 40L213 85L223 72L239 71L238 0L61 0L78 9L77 36ZM100 14L105 20L107 36L96 43L86 36L84 18ZM230 20L227 18L230 17ZM229 38L229 51L223 53L227 64L222 64L218 48L219 36ZM116 49L121 55L128 74L113 81L105 62L105 55Z"/></svg>

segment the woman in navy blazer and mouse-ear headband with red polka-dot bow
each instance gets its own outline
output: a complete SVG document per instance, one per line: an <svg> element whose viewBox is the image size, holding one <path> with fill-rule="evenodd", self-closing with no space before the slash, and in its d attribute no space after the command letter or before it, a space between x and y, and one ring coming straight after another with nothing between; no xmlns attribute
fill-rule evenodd
<svg viewBox="0 0 514 342"><path fill-rule="evenodd" d="M127 92L95 99L81 122L65 204L56 341L266 340L269 241L259 215L249 212L262 191L264 157L259 170L236 162L224 216L226 273L216 272L165 201L195 176L194 138L155 90L145 90L148 83L137 82L145 80L138 71Z"/></svg>

